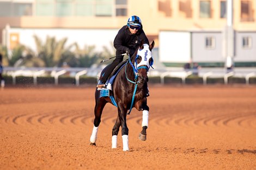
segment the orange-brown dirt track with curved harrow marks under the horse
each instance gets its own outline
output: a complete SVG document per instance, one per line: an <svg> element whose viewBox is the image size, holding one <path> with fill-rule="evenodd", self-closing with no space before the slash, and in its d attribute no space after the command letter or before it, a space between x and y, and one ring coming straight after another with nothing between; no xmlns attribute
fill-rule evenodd
<svg viewBox="0 0 256 170"><path fill-rule="evenodd" d="M107 104L89 146L94 88L0 91L0 169L255 169L256 87L150 87L147 141L142 112L127 116L130 152L111 149L117 109Z"/></svg>

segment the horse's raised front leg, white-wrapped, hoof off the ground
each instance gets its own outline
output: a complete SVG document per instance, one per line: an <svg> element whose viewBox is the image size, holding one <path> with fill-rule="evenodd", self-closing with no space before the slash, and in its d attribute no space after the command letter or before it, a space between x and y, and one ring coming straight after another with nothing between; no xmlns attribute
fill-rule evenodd
<svg viewBox="0 0 256 170"><path fill-rule="evenodd" d="M142 111L142 131L139 133L139 139L147 140L147 129L149 126L149 106L147 105L147 98L143 98L135 104L135 108Z"/></svg>

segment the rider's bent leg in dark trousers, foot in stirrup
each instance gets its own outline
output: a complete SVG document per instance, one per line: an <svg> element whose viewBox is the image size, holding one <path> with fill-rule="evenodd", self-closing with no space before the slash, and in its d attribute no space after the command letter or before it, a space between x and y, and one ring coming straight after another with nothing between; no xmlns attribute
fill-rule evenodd
<svg viewBox="0 0 256 170"><path fill-rule="evenodd" d="M109 75L112 73L112 71L114 70L114 68L115 68L120 62L123 61L123 58L124 58L123 55L117 56L117 58L115 58L111 64L109 64L108 66L106 66L106 68L104 68L105 73L103 73L103 75L100 77L99 83L97 84L97 87L98 87L98 88L101 89L101 88L105 85L105 83L106 83L106 81L107 81Z"/></svg>

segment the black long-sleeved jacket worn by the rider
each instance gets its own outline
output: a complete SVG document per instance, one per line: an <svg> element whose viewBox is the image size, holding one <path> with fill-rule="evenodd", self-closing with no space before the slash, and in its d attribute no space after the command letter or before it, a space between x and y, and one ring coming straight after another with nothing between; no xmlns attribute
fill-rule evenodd
<svg viewBox="0 0 256 170"><path fill-rule="evenodd" d="M142 27L138 30L136 34L131 34L129 27L122 27L114 39L114 47L115 49L117 49L116 54L124 54L126 48L128 47L130 49L130 55L132 55L133 53L135 53L142 40L144 41L144 43L147 43L149 45L149 40L145 35Z"/></svg>

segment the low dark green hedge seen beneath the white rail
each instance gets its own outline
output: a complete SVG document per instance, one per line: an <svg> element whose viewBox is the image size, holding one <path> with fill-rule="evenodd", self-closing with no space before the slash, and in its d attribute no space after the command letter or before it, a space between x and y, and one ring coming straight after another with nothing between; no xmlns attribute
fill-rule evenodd
<svg viewBox="0 0 256 170"><path fill-rule="evenodd" d="M13 77L4 75L5 84L13 84ZM54 85L54 77L38 77L37 84L38 85L46 85L52 84ZM97 83L96 77L80 77L80 85L95 85ZM160 77L149 77L150 84L160 84L161 78ZM189 76L185 80L186 84L203 84L203 78L197 76ZM229 77L228 84L245 84L245 78L238 78L238 77ZM33 77L25 77L25 76L18 76L16 77L16 84L17 85L25 85L30 86L34 85ZM59 85L75 85L76 80L74 77L68 76L60 76L58 79ZM164 77L164 84L182 84L182 79L177 77ZM224 78L208 78L207 84L224 84ZM256 84L256 77L252 77L249 79L249 84Z"/></svg>

